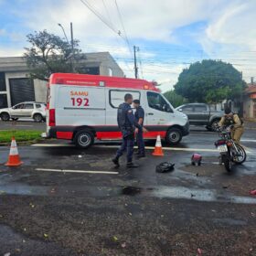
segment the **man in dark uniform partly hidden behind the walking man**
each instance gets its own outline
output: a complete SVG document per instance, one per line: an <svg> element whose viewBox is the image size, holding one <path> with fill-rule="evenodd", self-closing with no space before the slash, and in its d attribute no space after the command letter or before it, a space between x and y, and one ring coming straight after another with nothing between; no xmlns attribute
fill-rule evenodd
<svg viewBox="0 0 256 256"><path fill-rule="evenodd" d="M144 109L141 106L140 100L134 100L133 106L136 109L134 113L135 120L141 126L144 126ZM144 131L141 129L140 131L136 129L136 141L138 144L138 157L144 157Z"/></svg>

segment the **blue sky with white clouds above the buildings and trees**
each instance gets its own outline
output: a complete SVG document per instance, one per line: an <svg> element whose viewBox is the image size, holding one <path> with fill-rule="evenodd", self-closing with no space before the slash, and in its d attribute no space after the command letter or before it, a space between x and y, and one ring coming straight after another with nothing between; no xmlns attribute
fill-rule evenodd
<svg viewBox="0 0 256 256"><path fill-rule="evenodd" d="M112 29L80 0L0 0L0 57L21 56L26 35L35 30L63 37L58 23L69 37L72 21L82 50L109 51L127 77L133 77L133 45L140 48L140 78L157 80L163 91L201 59L230 62L246 81L256 77L255 0L83 1Z"/></svg>

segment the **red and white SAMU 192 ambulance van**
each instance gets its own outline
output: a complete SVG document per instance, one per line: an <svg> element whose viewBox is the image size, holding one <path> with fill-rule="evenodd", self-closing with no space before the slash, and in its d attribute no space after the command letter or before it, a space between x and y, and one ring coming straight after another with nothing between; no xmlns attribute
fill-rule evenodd
<svg viewBox="0 0 256 256"><path fill-rule="evenodd" d="M158 134L178 144L189 133L187 115L178 112L153 82L98 75L55 73L48 82L47 136L87 148L95 140L120 140L117 109L126 93L144 108L144 139Z"/></svg>

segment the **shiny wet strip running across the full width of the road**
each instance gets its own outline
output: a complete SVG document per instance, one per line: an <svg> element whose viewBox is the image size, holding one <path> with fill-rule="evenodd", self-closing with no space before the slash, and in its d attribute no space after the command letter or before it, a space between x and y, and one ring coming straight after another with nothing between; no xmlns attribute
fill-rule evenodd
<svg viewBox="0 0 256 256"><path fill-rule="evenodd" d="M68 195L90 195L91 197L165 197L176 199L190 199L208 202L231 202L237 204L256 204L256 197L240 197L229 193L220 194L215 189L191 188L191 187L95 187L95 186L65 186L57 187L54 191L56 196ZM20 183L0 182L0 195L27 195L27 196L48 196L52 194L52 187L29 186Z"/></svg>

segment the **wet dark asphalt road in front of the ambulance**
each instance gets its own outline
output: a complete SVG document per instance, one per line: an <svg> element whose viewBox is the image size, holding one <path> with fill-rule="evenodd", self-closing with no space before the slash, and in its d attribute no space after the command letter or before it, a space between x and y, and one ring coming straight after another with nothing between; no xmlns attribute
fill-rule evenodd
<svg viewBox="0 0 256 256"><path fill-rule="evenodd" d="M19 146L23 165L3 165L0 255L256 255L256 137L247 130L244 165L218 164L215 133L200 128L164 157L115 168L116 143L80 150L65 141ZM203 155L201 166L190 156ZM155 173L171 161L175 170ZM2 254L1 254L2 253Z"/></svg>

